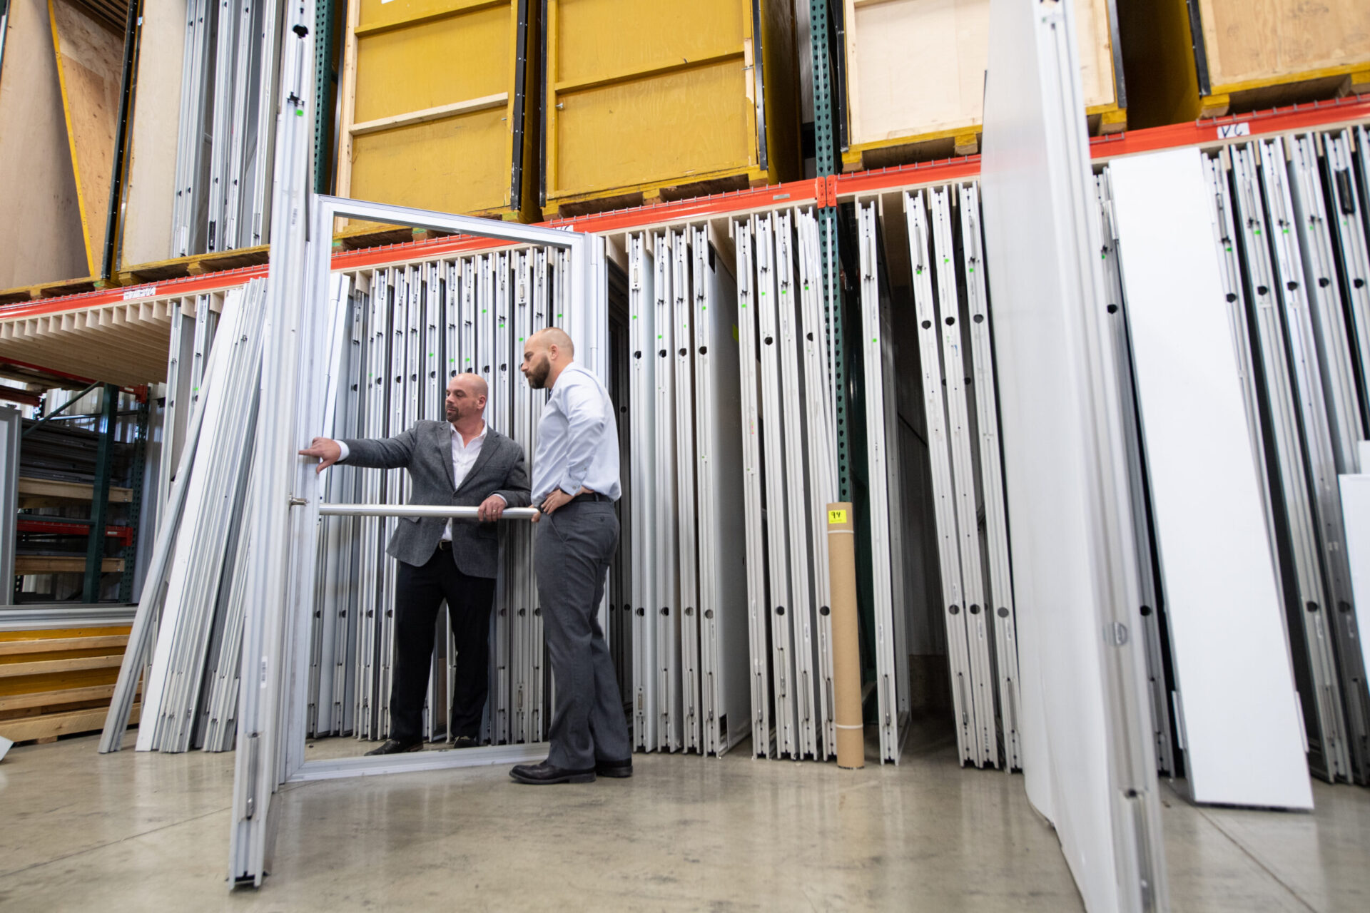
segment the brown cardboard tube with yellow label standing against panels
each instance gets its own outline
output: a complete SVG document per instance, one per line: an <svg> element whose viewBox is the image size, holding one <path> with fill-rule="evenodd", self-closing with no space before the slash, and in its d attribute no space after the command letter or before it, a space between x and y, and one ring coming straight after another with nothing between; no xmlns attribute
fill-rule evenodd
<svg viewBox="0 0 1370 913"><path fill-rule="evenodd" d="M852 505L827 505L827 580L833 612L833 701L837 767L866 767L860 720L860 634L856 624L856 528Z"/></svg>

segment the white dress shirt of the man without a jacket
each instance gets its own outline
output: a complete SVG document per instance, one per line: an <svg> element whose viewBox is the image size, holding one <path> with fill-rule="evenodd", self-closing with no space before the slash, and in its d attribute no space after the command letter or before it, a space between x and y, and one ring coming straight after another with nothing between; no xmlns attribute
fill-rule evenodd
<svg viewBox="0 0 1370 913"><path fill-rule="evenodd" d="M608 390L573 361L552 385L537 426L533 457L533 504L560 489L582 487L618 500L618 423Z"/></svg>

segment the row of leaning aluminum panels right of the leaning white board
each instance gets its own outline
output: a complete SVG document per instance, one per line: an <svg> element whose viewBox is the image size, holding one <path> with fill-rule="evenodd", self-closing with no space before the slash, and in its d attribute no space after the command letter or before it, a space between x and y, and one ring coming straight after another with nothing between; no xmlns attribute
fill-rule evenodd
<svg viewBox="0 0 1370 913"><path fill-rule="evenodd" d="M1370 693L1352 606L1338 474L1358 470L1370 415L1366 131L1230 146L1208 163L1234 341L1252 363L1252 445L1267 494L1310 768L1370 782ZM1252 401L1259 409L1252 408ZM1269 441L1269 446L1266 446Z"/></svg>

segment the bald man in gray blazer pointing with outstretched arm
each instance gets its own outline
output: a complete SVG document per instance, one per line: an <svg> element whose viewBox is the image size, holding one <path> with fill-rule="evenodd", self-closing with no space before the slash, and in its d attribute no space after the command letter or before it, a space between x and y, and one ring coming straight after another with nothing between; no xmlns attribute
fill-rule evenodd
<svg viewBox="0 0 1370 913"><path fill-rule="evenodd" d="M523 448L485 424L489 390L478 375L459 374L447 385L447 422L418 422L384 441L314 438L300 450L334 463L408 470L410 504L478 506L480 520L400 517L386 552L399 561L395 580L395 680L390 738L367 754L423 747L437 610L447 600L456 641L452 728L456 747L480 743L481 712L489 690L490 606L499 574L495 522L506 506L527 506Z"/></svg>

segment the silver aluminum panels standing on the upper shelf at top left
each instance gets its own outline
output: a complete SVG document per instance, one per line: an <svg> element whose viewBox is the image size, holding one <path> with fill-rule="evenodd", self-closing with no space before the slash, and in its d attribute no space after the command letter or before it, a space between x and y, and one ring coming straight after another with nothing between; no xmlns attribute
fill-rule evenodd
<svg viewBox="0 0 1370 913"><path fill-rule="evenodd" d="M186 4L170 256L266 244L285 4Z"/></svg>

